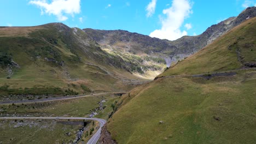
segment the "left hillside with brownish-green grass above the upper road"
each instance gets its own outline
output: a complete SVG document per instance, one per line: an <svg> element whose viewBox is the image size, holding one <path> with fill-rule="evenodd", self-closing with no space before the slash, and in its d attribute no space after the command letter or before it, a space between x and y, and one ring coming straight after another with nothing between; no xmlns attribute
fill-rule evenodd
<svg viewBox="0 0 256 144"><path fill-rule="evenodd" d="M62 23L1 27L0 44L0 95L126 91L143 81L132 64Z"/></svg>

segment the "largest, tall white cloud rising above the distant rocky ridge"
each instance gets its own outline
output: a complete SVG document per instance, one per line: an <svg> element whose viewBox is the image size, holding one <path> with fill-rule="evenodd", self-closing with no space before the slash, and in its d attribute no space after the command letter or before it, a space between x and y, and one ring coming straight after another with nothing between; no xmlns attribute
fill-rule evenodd
<svg viewBox="0 0 256 144"><path fill-rule="evenodd" d="M165 18L160 17L161 29L156 29L150 33L150 37L160 39L176 40L188 33L181 31L184 19L192 14L192 3L189 0L173 0L171 8L164 9Z"/></svg>

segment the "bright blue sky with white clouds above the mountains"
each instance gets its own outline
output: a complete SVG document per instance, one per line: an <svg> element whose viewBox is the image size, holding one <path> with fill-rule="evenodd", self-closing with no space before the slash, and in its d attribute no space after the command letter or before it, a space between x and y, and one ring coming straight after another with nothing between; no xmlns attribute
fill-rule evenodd
<svg viewBox="0 0 256 144"><path fill-rule="evenodd" d="M174 40L201 34L251 6L256 0L8 0L0 2L0 26L62 22Z"/></svg>

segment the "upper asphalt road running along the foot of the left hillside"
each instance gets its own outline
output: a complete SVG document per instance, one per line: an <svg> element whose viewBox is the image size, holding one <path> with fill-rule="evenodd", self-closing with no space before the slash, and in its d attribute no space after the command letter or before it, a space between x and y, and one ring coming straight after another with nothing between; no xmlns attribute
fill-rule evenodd
<svg viewBox="0 0 256 144"><path fill-rule="evenodd" d="M27 104L27 103L42 103L46 101L56 101L56 100L68 100L68 99L77 99L83 97L90 97L95 95L103 95L103 94L125 94L126 92L110 92L110 93L96 93L96 94L88 94L88 95L74 95L67 97L55 97L55 98L47 98L47 99L34 99L34 100L13 100L13 101L0 101L0 104Z"/></svg>

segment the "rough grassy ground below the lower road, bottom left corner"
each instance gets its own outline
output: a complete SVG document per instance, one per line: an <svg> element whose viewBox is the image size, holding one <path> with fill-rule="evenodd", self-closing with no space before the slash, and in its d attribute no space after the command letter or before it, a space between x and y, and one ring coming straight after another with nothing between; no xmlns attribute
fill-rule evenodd
<svg viewBox="0 0 256 144"><path fill-rule="evenodd" d="M65 125L55 121L1 121L0 139L2 143L69 143L75 139L79 127L83 125ZM15 127L18 123L27 123ZM71 132L71 136L65 135ZM45 139L47 137L47 139Z"/></svg>

